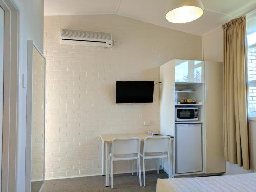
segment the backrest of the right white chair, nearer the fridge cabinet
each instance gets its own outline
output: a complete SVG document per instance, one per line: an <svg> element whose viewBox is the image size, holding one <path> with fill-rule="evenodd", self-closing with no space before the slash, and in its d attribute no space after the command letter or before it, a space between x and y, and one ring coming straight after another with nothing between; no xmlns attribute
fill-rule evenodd
<svg viewBox="0 0 256 192"><path fill-rule="evenodd" d="M145 153L153 152L170 152L170 137L169 136L159 136L159 137L146 137L144 140L144 150Z"/></svg>

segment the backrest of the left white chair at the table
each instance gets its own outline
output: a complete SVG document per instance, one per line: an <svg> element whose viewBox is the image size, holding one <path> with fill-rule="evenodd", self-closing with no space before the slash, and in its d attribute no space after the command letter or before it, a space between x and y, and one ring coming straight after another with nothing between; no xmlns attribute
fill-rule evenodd
<svg viewBox="0 0 256 192"><path fill-rule="evenodd" d="M117 154L133 154L140 153L140 138L114 138L112 140L111 153Z"/></svg>

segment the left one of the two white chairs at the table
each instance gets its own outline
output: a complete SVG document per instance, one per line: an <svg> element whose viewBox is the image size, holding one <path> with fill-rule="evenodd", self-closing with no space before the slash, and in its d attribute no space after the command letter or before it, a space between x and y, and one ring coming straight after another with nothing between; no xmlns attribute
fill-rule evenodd
<svg viewBox="0 0 256 192"><path fill-rule="evenodd" d="M110 162L111 162L111 188L113 188L113 161L137 160L139 165L139 181L141 184L141 168L140 168L140 139L132 138L114 138L112 140ZM133 164L133 162L132 162ZM133 166L132 166L133 174Z"/></svg>

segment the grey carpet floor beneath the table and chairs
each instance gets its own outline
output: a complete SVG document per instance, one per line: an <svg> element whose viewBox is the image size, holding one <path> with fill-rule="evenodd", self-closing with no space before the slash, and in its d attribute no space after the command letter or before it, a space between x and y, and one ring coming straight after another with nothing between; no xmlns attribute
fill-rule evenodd
<svg viewBox="0 0 256 192"><path fill-rule="evenodd" d="M157 178L168 178L168 175L163 171L160 171L159 174L156 174L156 172L147 172L146 186L140 186L139 176L132 176L131 174L115 174L114 189L111 189L111 186L105 187L104 176L46 180L44 192L155 192ZM141 179L143 185L143 175Z"/></svg>

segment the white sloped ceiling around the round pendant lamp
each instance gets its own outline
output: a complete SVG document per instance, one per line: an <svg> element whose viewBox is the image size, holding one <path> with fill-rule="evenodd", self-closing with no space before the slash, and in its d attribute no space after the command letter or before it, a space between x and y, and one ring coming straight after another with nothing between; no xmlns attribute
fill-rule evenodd
<svg viewBox="0 0 256 192"><path fill-rule="evenodd" d="M256 9L256 0L201 0L202 17L186 24L165 19L169 2L178 0L44 0L45 15L117 14L143 22L204 35L225 22Z"/></svg>

